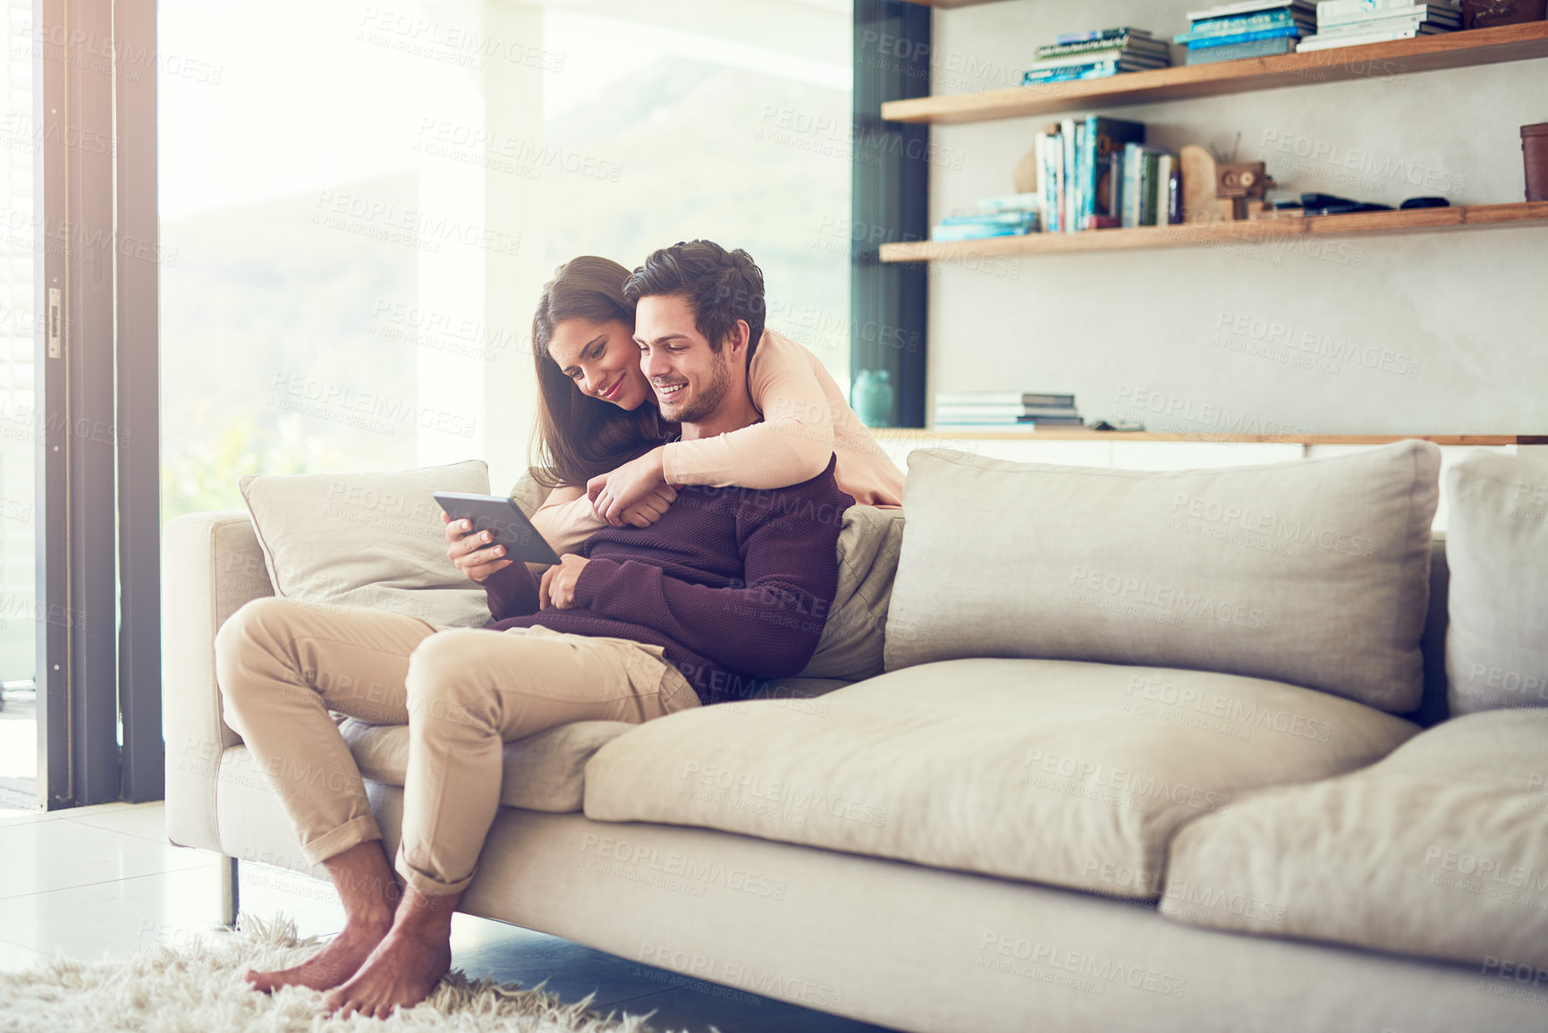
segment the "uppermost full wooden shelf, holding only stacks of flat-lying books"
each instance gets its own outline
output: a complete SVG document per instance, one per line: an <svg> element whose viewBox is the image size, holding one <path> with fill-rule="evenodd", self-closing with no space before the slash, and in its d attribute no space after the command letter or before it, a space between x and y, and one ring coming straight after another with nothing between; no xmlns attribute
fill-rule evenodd
<svg viewBox="0 0 1548 1033"><path fill-rule="evenodd" d="M895 122L983 122L998 118L1184 101L1280 87L1385 79L1415 71L1494 65L1548 57L1548 22L1498 25L1466 33L1316 50L1277 57L1243 57L1212 65L1130 71L1107 79L1051 82L988 93L889 101L881 116Z"/></svg>

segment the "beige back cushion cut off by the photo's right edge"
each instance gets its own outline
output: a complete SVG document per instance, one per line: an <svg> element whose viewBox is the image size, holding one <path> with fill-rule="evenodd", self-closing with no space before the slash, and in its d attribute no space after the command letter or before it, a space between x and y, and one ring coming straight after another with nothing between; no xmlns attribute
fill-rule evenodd
<svg viewBox="0 0 1548 1033"><path fill-rule="evenodd" d="M1446 499L1450 711L1548 706L1548 462L1474 452Z"/></svg>

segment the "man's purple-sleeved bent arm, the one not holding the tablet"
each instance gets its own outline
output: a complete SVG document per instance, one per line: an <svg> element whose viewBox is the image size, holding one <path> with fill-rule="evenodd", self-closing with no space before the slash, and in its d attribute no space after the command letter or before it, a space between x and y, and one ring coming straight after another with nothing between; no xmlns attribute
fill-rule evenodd
<svg viewBox="0 0 1548 1033"><path fill-rule="evenodd" d="M837 541L853 500L830 491L769 492L786 511L754 517L743 537L743 587L712 589L636 561L593 559L574 606L652 627L701 657L766 678L800 674L811 660L839 584Z"/></svg>

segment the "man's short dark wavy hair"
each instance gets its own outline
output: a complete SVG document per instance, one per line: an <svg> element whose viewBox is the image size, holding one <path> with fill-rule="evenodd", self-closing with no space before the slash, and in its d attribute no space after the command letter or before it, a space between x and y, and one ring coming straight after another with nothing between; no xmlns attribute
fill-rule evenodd
<svg viewBox="0 0 1548 1033"><path fill-rule="evenodd" d="M680 242L653 252L624 282L624 304L635 308L641 297L681 294L694 308L694 324L720 352L737 321L748 324L748 362L763 336L763 269L737 248L726 251L714 240Z"/></svg>

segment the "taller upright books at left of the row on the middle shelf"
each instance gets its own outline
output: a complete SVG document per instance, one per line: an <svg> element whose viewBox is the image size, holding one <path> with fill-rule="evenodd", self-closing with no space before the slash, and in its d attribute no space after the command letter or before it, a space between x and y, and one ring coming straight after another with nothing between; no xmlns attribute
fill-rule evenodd
<svg viewBox="0 0 1548 1033"><path fill-rule="evenodd" d="M1033 138L1042 186L1043 229L1108 229L1122 217L1128 144L1142 144L1144 122L1067 118Z"/></svg>

